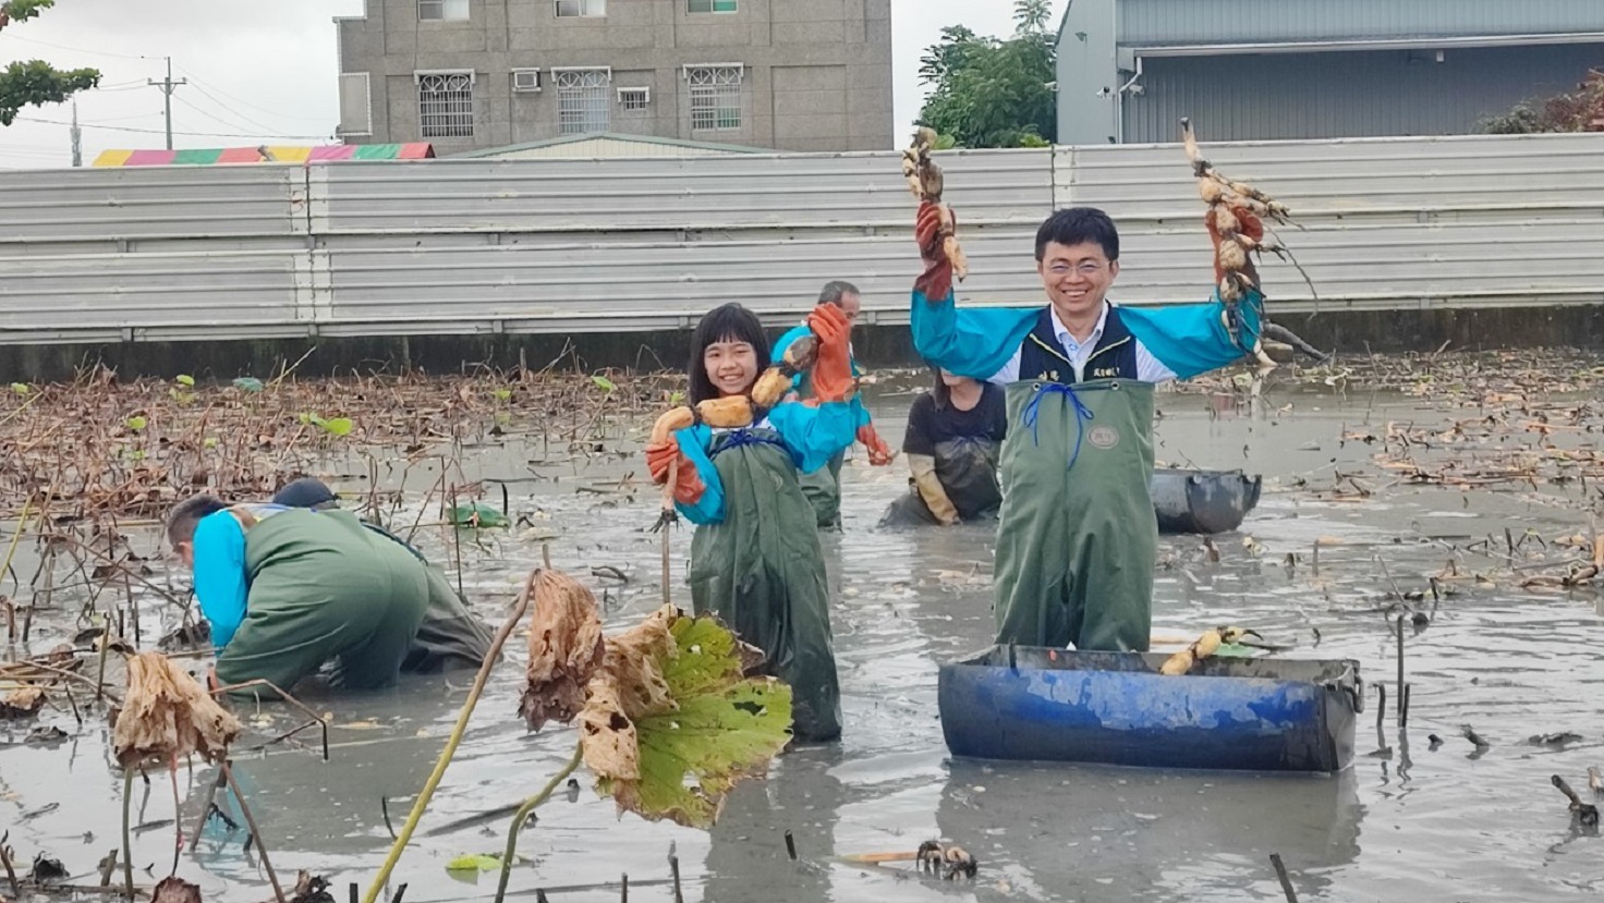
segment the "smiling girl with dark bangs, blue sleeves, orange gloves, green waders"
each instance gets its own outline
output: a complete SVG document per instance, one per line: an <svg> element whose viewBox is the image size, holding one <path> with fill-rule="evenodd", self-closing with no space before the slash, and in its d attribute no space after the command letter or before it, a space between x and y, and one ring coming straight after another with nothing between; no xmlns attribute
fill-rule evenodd
<svg viewBox="0 0 1604 903"><path fill-rule="evenodd" d="M788 398L741 428L698 423L646 446L658 483L672 462L677 510L696 524L690 585L698 614L722 618L764 650L759 670L791 685L792 735L840 736L840 686L831 648L824 553L799 475L824 467L852 444L855 420L847 319L820 305L813 398ZM725 305L691 338L690 403L751 395L768 366L768 338L752 311Z"/></svg>

